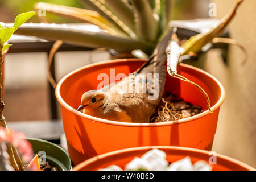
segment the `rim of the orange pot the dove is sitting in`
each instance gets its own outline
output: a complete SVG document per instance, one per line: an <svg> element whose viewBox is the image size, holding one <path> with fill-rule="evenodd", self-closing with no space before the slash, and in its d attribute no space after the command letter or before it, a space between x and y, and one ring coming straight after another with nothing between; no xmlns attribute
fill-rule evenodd
<svg viewBox="0 0 256 182"><path fill-rule="evenodd" d="M73 107L69 106L63 100L63 98L61 97L60 87L63 84L63 82L69 76L71 76L71 75L73 75L77 72L80 72L83 69L94 67L94 66L97 66L97 65L102 65L102 64L120 63L120 62L128 62L128 61L138 61L138 60L139 59L115 59L115 60L102 61L100 63L89 64L89 65L85 65L84 67L75 69L75 71L72 71L71 73L68 73L66 76L64 76L59 81L59 83L57 84L56 89L55 89L56 98L59 101L59 103L63 107L65 107L65 109L70 111L71 113L79 115L82 118L90 119L94 122L101 122L101 123L105 123L105 124L108 124L108 125L129 126L129 127L138 127L138 126L141 126L141 127L157 127L157 126L177 125L177 124L180 124L180 123L191 122L195 119L199 119L201 117L204 117L205 115L211 114L209 110L205 110L203 113L194 115L194 116L189 117L189 118L179 119L179 120L176 120L176 121L159 122L159 123L129 123L129 122L110 121L108 119L101 119L101 118L93 117L93 116L88 115L88 114L81 113L80 111L77 111L76 109L73 109ZM141 60L141 61L146 61L146 60ZM202 69L199 69L199 68L196 68L196 67L193 67L191 65L184 64L184 63L180 63L180 65L182 67L186 67L186 68L189 68L189 69L193 69L197 72L201 72L204 75L207 75L208 77L212 78L212 80L214 80L215 82L217 82L217 84L218 84L218 86L220 87L220 90L221 90L221 96L220 96L219 100L217 101L217 103L215 105L213 105L212 107L210 107L210 109L212 109L212 111L218 109L218 107L220 107L222 105L222 103L224 102L225 97L226 97L226 92L225 92L224 86L221 84L221 82L218 81L217 78L215 78L214 76L212 76L209 73L203 71Z"/></svg>

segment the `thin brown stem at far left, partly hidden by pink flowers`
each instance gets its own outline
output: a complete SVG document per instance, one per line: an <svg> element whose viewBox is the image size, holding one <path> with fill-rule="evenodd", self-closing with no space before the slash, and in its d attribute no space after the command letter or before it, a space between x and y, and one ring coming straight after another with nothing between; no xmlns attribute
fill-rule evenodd
<svg viewBox="0 0 256 182"><path fill-rule="evenodd" d="M2 99L2 67L3 67L3 43L0 43L0 126L5 128L7 131L5 117L3 116L3 109L5 109L5 102ZM18 154L18 151L11 144L6 144L7 153L10 157L11 166L15 171L23 170L22 160Z"/></svg>

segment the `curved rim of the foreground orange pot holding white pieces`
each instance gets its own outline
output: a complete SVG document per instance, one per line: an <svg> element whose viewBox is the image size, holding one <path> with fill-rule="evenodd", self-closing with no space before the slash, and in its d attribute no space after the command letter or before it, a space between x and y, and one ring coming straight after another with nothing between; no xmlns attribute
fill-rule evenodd
<svg viewBox="0 0 256 182"><path fill-rule="evenodd" d="M197 148L177 147L177 146L146 146L146 147L125 148L125 149L122 149L122 150L108 152L108 153L97 155L97 156L94 156L93 158L87 159L84 162L81 162L80 164L77 164L77 166L73 167L73 171L77 171L77 169L79 169L79 168L82 168L82 167L87 166L91 163L94 163L98 159L104 159L104 158L108 158L109 156L114 156L114 155L117 155L117 154L123 154L125 152L130 152L130 151L151 150L151 149L154 149L154 148L157 148L157 149L160 149L160 150L169 149L169 150L196 152L196 153L206 154L206 155L209 155L209 152L211 152L211 151L205 151L205 150L201 150L201 149L197 149ZM230 158L229 156L226 156L226 155L216 154L216 157L219 158L219 159L227 160L227 161L232 162L232 163L236 163L239 166L242 166L243 168L249 169L250 171L255 171L256 170L254 167L251 167L248 164L241 162L240 160Z"/></svg>

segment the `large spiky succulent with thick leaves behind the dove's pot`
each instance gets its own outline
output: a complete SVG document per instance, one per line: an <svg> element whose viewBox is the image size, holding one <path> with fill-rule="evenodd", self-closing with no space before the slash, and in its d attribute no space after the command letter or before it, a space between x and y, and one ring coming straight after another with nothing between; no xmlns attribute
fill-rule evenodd
<svg viewBox="0 0 256 182"><path fill-rule="evenodd" d="M84 22L90 22L102 30L85 30L72 25L47 24L46 17L38 14L41 22L46 24L26 24L16 34L34 35L49 40L63 40L67 43L92 48L115 49L119 52L142 50L151 55L156 44L170 29L173 0L80 0L86 9L53 5L39 2L34 5L35 11L46 10ZM224 30L233 18L238 5L232 14L225 16L217 28L205 34L199 34L183 44L184 52L199 52L205 44Z"/></svg>

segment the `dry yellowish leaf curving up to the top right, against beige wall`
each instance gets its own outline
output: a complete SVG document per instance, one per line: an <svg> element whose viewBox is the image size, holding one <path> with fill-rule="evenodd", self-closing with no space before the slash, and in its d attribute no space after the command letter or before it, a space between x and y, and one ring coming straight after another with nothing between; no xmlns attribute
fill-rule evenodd
<svg viewBox="0 0 256 182"><path fill-rule="evenodd" d="M181 55L185 55L189 52L199 52L206 44L212 42L213 38L219 36L225 30L226 26L228 26L229 22L234 18L237 8L242 2L243 0L238 0L233 10L226 14L215 28L212 28L208 32L192 36L189 40L187 40L187 42L182 45L183 51Z"/></svg>

